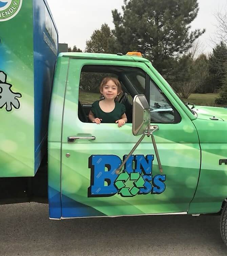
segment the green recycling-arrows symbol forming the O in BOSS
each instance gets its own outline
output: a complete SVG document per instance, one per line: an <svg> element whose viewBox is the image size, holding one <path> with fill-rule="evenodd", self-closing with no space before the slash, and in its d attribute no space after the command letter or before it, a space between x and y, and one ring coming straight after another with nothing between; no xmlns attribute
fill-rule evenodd
<svg viewBox="0 0 227 256"><path fill-rule="evenodd" d="M126 187L127 181L133 181L131 187ZM145 181L139 172L122 172L115 181L115 186L119 189L119 194L122 197L133 197L136 196L140 189L144 187Z"/></svg>

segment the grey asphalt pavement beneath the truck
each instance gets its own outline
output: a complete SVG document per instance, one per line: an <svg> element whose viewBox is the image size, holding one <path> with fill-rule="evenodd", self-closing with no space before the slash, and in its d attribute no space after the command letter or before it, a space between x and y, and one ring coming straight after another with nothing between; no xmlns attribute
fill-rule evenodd
<svg viewBox="0 0 227 256"><path fill-rule="evenodd" d="M49 220L48 205L0 205L0 255L226 256L219 216Z"/></svg>

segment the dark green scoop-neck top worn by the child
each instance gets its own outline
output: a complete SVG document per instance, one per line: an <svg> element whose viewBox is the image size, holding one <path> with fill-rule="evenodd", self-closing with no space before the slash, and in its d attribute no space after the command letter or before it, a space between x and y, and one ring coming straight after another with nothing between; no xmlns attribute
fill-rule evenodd
<svg viewBox="0 0 227 256"><path fill-rule="evenodd" d="M118 101L115 102L114 110L109 113L102 111L99 102L100 100L97 100L92 104L91 112L94 114L95 118L98 117L102 119L101 123L115 123L117 120L121 119L121 116L125 113L125 106Z"/></svg>

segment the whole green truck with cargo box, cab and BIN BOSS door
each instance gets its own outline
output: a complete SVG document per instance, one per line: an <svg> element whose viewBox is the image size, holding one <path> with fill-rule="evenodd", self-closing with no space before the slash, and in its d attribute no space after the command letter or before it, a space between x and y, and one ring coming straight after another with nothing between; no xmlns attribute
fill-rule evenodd
<svg viewBox="0 0 227 256"><path fill-rule="evenodd" d="M48 202L55 220L219 214L227 244L227 109L186 105L140 56L57 57L43 0L0 26L1 204ZM105 76L122 85L121 128L88 119Z"/></svg>

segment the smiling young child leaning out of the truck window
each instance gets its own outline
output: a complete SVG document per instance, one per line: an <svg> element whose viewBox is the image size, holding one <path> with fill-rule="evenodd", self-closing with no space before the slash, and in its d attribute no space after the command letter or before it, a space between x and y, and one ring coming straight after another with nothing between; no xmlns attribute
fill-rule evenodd
<svg viewBox="0 0 227 256"><path fill-rule="evenodd" d="M125 106L116 100L122 92L120 82L117 78L105 77L99 90L104 98L92 104L89 112L90 121L96 124L116 123L118 127L122 127L127 123L127 117Z"/></svg>

